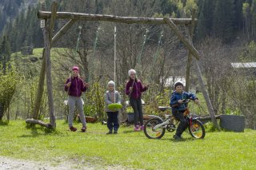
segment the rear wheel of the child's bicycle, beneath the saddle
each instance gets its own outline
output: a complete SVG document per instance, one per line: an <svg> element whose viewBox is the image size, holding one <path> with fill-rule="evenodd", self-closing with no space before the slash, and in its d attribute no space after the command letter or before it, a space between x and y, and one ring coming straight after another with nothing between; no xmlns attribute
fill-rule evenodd
<svg viewBox="0 0 256 170"><path fill-rule="evenodd" d="M162 123L162 120L158 118L152 118L149 121L146 121L144 125L144 133L147 136L147 138L161 139L162 136L164 136L166 132L166 128L159 127L154 129L156 125L159 125L161 123Z"/></svg>

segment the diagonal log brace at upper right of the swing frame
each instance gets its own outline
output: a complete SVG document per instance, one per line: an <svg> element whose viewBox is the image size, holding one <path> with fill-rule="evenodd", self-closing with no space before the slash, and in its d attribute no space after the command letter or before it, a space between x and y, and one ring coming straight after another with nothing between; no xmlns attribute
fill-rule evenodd
<svg viewBox="0 0 256 170"><path fill-rule="evenodd" d="M180 31L178 30L175 23L173 21L171 21L170 18L164 18L164 21L170 27L170 29L174 31L174 34L176 34L178 36L178 39L180 41L182 41L182 43L186 46L186 48L188 48L190 50L190 52L193 53L194 57L199 59L199 53L198 53L197 49L195 49L194 46L191 45L190 42L186 38L184 38L184 36L180 33Z"/></svg>

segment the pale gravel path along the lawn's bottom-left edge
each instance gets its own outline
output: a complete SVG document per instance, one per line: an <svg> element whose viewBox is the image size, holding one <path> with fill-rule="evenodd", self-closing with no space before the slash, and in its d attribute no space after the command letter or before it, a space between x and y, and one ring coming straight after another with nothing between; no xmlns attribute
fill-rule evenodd
<svg viewBox="0 0 256 170"><path fill-rule="evenodd" d="M127 169L121 166L102 167L90 164L74 164L70 162L62 162L60 164L50 164L48 162L39 162L32 160L18 160L10 157L0 156L0 170L69 170L69 169Z"/></svg>

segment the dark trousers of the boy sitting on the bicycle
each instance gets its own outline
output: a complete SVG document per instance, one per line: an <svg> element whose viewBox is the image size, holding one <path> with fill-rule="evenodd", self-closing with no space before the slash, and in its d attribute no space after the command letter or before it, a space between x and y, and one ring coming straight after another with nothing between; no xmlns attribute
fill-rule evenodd
<svg viewBox="0 0 256 170"><path fill-rule="evenodd" d="M173 111L174 117L179 121L178 128L176 130L176 136L182 136L182 132L189 126L189 121L183 116L185 110Z"/></svg>

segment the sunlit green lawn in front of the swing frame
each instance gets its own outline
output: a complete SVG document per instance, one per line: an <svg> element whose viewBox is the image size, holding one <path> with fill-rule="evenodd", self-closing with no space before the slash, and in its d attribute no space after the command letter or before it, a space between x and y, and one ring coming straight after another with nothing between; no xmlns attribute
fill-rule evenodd
<svg viewBox="0 0 256 170"><path fill-rule="evenodd" d="M81 125L75 125L81 128ZM149 140L132 127L119 129L118 135L105 135L106 125L89 124L88 132L70 132L64 121L56 132L43 128L26 129L25 121L0 125L0 156L19 159L86 161L91 164L145 169L255 169L256 131L207 132L204 140ZM53 157L53 159L50 159Z"/></svg>

